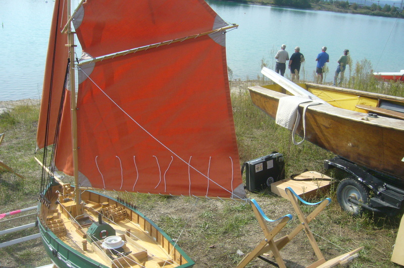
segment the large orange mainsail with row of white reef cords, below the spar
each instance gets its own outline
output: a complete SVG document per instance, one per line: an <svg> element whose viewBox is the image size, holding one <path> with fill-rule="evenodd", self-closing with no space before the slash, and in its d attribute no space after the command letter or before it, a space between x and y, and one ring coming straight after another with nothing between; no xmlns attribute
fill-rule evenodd
<svg viewBox="0 0 404 268"><path fill-rule="evenodd" d="M225 59L203 36L83 66L80 184L243 198Z"/></svg>

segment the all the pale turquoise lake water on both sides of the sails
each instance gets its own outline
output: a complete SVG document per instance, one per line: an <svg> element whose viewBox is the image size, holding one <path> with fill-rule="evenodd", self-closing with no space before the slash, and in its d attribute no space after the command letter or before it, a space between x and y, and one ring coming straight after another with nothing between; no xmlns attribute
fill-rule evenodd
<svg viewBox="0 0 404 268"><path fill-rule="evenodd" d="M315 59L324 45L330 55L330 73L345 48L354 62L366 58L375 71L404 69L402 19L208 3L224 20L239 25L227 33L227 61L233 79L256 79L261 61L274 66L275 53L283 43L289 56L300 46L307 80L313 80ZM0 1L0 100L40 98L53 6L51 0ZM331 81L332 75L326 79Z"/></svg>

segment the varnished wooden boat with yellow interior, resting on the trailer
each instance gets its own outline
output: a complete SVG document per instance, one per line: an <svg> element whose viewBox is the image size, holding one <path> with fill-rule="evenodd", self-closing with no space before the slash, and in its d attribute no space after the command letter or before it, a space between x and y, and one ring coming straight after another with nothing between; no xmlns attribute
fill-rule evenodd
<svg viewBox="0 0 404 268"><path fill-rule="evenodd" d="M351 162L398 178L400 184L404 183L404 120L381 115L370 117L368 111L357 107L377 108L381 101L401 106L404 98L309 83L299 85L335 105L307 108L306 140ZM254 86L249 88L249 92L252 102L274 119L279 99L287 96L279 85ZM300 114L302 106L299 106ZM304 136L302 119L296 133Z"/></svg>

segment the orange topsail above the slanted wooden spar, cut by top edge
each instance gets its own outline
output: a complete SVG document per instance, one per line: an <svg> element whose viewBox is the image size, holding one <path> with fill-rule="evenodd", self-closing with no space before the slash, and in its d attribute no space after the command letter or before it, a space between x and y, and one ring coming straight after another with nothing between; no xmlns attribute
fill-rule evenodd
<svg viewBox="0 0 404 268"><path fill-rule="evenodd" d="M204 0L126 3L87 0L75 16L77 37L91 57L209 32L217 19Z"/></svg>

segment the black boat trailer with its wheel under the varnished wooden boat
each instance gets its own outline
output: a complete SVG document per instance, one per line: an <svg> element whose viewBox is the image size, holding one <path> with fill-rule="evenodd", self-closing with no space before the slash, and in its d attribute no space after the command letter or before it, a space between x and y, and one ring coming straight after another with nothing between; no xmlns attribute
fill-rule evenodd
<svg viewBox="0 0 404 268"><path fill-rule="evenodd" d="M337 168L348 174L337 188L338 202L344 210L356 215L364 208L394 216L401 208L404 190L387 183L393 182L393 177L366 169L340 156L324 160L324 167L327 170ZM369 189L374 192L371 198Z"/></svg>

